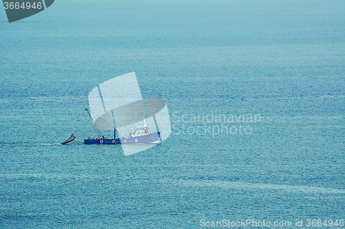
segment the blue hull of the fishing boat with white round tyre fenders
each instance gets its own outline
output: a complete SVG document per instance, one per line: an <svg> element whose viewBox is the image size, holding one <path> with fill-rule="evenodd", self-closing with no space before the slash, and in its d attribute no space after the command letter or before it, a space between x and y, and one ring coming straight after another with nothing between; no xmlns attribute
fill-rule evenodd
<svg viewBox="0 0 345 229"><path fill-rule="evenodd" d="M135 144L158 143L161 132L149 133L132 138L86 138L84 144Z"/></svg>

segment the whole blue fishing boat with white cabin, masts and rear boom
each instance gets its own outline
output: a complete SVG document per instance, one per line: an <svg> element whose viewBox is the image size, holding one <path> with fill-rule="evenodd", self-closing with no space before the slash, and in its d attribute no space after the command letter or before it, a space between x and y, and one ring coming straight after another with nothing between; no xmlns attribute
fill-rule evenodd
<svg viewBox="0 0 345 229"><path fill-rule="evenodd" d="M85 109L88 111L89 116L92 118L90 110ZM134 131L130 131L128 137L121 137L117 138L117 129L114 127L114 138L106 138L100 131L100 129L95 126L98 131L98 138L86 138L84 140L84 144L135 144L135 143L159 143L159 136L161 134L160 131L151 132L150 127L146 124L144 118L144 126L142 127L135 127Z"/></svg>

